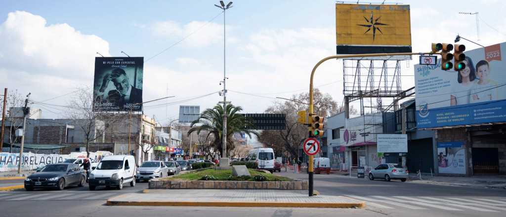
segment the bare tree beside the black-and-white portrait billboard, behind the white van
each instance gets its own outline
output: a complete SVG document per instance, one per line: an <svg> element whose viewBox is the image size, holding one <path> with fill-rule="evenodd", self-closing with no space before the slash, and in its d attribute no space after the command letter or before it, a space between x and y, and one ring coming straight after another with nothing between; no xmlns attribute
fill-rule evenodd
<svg viewBox="0 0 506 217"><path fill-rule="evenodd" d="M124 119L124 115L111 115L93 110L93 92L89 87L78 87L70 99L65 116L82 131L87 157L90 157L90 143L102 141L111 126Z"/></svg>

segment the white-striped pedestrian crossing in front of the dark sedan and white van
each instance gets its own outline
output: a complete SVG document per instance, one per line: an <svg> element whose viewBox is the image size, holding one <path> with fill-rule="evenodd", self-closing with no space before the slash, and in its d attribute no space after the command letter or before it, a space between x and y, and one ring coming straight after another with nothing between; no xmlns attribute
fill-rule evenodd
<svg viewBox="0 0 506 217"><path fill-rule="evenodd" d="M44 193L0 193L0 201L44 201L44 200L106 200L119 196L123 193L60 193L60 192L44 192Z"/></svg>

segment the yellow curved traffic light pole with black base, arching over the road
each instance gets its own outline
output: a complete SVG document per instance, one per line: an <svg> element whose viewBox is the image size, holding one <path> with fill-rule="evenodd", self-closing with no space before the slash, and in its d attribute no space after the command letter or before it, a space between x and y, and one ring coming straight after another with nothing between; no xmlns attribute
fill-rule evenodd
<svg viewBox="0 0 506 217"><path fill-rule="evenodd" d="M418 52L418 53L368 53L368 54L360 54L360 55L334 55L330 57L323 58L318 62L315 67L313 67L313 71L311 72L311 78L309 81L309 116L313 114L313 77L315 75L316 69L325 61L333 60L333 59L346 59L346 58L356 58L356 57L384 57L384 56L411 56L411 55L435 55L440 54L439 52ZM313 120L308 118L309 122L309 132L312 131L311 125ZM312 136L310 134L310 136ZM313 155L309 156L309 196L313 196Z"/></svg>

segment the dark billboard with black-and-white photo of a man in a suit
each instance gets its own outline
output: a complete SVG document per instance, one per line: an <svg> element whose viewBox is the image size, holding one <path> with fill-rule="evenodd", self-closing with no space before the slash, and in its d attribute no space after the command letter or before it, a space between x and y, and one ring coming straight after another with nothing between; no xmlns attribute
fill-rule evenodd
<svg viewBox="0 0 506 217"><path fill-rule="evenodd" d="M93 111L142 111L143 57L95 58Z"/></svg>

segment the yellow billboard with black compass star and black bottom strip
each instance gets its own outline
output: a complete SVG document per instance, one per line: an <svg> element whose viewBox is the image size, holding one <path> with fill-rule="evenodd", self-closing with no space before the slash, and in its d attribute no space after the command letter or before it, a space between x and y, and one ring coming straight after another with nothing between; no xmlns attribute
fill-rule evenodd
<svg viewBox="0 0 506 217"><path fill-rule="evenodd" d="M335 5L338 54L411 52L409 5Z"/></svg>

